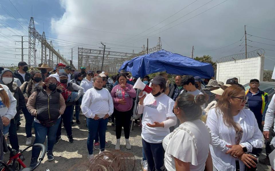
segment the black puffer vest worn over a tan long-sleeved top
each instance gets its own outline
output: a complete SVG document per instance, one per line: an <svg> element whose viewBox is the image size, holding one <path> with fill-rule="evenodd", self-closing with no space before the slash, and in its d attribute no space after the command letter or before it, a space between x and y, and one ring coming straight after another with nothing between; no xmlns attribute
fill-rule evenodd
<svg viewBox="0 0 275 171"><path fill-rule="evenodd" d="M39 121L57 120L59 113L60 92L54 90L51 94L47 94L43 88L36 87L36 118Z"/></svg>

